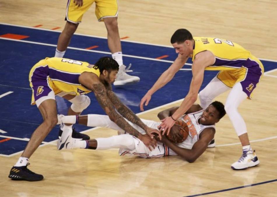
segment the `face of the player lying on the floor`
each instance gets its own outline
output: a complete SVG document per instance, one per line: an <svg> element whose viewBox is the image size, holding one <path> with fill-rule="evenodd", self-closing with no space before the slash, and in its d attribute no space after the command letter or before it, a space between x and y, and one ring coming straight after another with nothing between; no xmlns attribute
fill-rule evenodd
<svg viewBox="0 0 277 197"><path fill-rule="evenodd" d="M202 125L213 125L219 121L219 112L213 105L209 105L200 117Z"/></svg>

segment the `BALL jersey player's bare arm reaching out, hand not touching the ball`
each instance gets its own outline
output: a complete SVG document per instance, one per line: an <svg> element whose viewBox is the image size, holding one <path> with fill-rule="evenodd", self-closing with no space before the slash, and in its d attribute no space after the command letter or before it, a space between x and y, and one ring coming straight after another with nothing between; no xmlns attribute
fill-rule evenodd
<svg viewBox="0 0 277 197"><path fill-rule="evenodd" d="M144 97L141 99L140 102L140 109L141 111L144 111L143 104L145 103L145 106L148 105L149 101L151 100L152 94L154 94L157 90L162 88L164 85L166 85L173 76L184 66L184 64L187 62L188 57L184 57L182 55L178 55L176 60L171 64L171 66L163 72L163 74L159 77L159 79L156 81L156 83L152 86L150 90L144 95Z"/></svg>

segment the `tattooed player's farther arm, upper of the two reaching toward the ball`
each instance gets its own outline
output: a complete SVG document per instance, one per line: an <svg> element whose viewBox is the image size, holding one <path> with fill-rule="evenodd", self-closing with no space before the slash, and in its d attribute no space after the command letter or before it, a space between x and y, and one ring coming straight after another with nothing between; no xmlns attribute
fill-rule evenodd
<svg viewBox="0 0 277 197"><path fill-rule="evenodd" d="M107 87L107 95L110 98L113 105L115 106L118 113L120 113L124 118L126 118L128 121L138 125L140 128L145 130L145 132L149 136L153 137L153 135L151 133L157 133L160 136L160 132L158 130L150 128L147 125L145 125L141 121L141 119L136 114L134 114L134 112L131 109L129 109L125 104L123 104L120 101L120 99L113 92L111 85L109 85ZM160 136L160 138L161 138L161 136Z"/></svg>

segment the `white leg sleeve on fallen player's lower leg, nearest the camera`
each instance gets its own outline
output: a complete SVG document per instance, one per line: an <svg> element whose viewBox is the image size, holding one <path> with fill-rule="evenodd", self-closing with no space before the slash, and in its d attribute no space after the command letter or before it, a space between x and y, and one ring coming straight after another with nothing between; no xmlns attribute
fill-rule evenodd
<svg viewBox="0 0 277 197"><path fill-rule="evenodd" d="M129 134L115 135L107 138L96 138L96 150L106 150L111 148L123 148L132 151L136 148L134 137Z"/></svg>

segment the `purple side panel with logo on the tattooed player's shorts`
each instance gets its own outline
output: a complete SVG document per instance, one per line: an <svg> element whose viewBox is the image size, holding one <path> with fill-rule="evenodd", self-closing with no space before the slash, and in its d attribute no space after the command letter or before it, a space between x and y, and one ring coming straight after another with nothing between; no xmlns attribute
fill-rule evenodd
<svg viewBox="0 0 277 197"><path fill-rule="evenodd" d="M31 76L32 89L35 101L43 96L47 96L52 89L48 86L47 77L49 75L48 65L34 69Z"/></svg>

